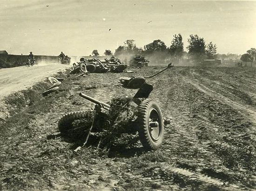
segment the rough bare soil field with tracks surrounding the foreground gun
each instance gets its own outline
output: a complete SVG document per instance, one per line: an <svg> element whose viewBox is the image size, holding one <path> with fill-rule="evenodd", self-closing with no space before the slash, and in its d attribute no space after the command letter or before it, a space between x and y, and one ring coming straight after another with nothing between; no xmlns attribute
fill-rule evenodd
<svg viewBox="0 0 256 191"><path fill-rule="evenodd" d="M132 69L149 76L164 67ZM134 96L117 80L125 73L65 77L49 96L48 82L5 98L0 122L1 190L254 190L256 189L256 71L251 68L174 67L147 82L150 98L172 118L163 145L146 152L138 142L97 149L90 140L59 133L62 115ZM89 138L90 139L90 138ZM93 139L91 137L91 139ZM94 143L95 142L95 143Z"/></svg>

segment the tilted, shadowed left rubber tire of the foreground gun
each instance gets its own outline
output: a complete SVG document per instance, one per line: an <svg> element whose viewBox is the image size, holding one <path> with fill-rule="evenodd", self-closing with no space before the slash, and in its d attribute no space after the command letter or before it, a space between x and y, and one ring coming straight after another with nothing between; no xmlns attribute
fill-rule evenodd
<svg viewBox="0 0 256 191"><path fill-rule="evenodd" d="M62 134L66 134L70 128L72 128L72 123L75 120L85 119L87 117L86 111L76 111L63 115L58 122L58 128Z"/></svg>

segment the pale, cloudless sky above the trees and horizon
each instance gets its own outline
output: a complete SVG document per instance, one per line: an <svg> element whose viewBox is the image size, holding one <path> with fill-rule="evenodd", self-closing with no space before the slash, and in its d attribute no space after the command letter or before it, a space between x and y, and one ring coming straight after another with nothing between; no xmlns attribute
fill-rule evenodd
<svg viewBox="0 0 256 191"><path fill-rule="evenodd" d="M218 53L256 48L256 1L1 0L0 50L9 54L113 53L127 39L143 47L181 34L213 42Z"/></svg>

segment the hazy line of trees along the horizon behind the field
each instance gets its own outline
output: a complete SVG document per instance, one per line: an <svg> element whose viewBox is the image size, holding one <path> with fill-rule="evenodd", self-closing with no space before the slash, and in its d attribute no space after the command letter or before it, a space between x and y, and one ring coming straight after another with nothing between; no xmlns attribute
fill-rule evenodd
<svg viewBox="0 0 256 191"><path fill-rule="evenodd" d="M213 42L206 43L204 38L200 38L197 34L189 35L187 51L184 51L184 43L181 34L175 34L171 41L171 45L168 47L160 40L154 40L153 42L144 45L143 48L137 47L135 40L128 39L123 45L120 45L115 49L113 53L110 50L105 50L105 56L122 57L124 55L136 55L140 54L145 57L154 57L155 60L161 62L165 59L182 59L188 58L194 63L200 63L205 59L241 59L244 62L252 62L255 57L255 48L251 48L245 55L237 54L218 54L217 46ZM92 56L99 56L97 50L92 52ZM246 61L245 61L246 60Z"/></svg>

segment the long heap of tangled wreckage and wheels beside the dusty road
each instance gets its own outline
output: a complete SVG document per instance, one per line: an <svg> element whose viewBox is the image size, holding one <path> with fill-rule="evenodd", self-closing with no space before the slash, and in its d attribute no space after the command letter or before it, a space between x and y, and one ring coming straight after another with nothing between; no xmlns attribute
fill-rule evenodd
<svg viewBox="0 0 256 191"><path fill-rule="evenodd" d="M105 58L105 61L101 61L98 58L85 59L80 58L80 70L87 70L90 73L105 73L105 72L123 72L127 65L123 64L118 58Z"/></svg>

